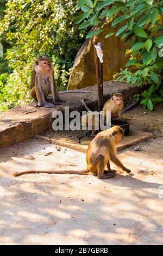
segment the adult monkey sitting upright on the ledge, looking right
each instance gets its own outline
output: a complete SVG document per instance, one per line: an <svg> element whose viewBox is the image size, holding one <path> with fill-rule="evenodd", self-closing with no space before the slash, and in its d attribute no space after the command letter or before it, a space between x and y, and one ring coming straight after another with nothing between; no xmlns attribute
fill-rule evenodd
<svg viewBox="0 0 163 256"><path fill-rule="evenodd" d="M52 93L52 103L46 102L46 97ZM60 94L68 93L86 93L85 91L65 91ZM65 100L60 99L57 86L54 79L53 65L50 62L49 57L46 54L40 55L35 60L35 65L32 71L32 77L30 81L30 96L33 97L38 103L34 107L55 107L59 105L59 102Z"/></svg>

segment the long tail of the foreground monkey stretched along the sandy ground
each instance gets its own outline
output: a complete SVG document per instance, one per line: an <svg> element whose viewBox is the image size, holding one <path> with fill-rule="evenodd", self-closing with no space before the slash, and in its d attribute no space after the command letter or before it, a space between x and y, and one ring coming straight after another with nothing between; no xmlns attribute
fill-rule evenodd
<svg viewBox="0 0 163 256"><path fill-rule="evenodd" d="M92 174L89 170L25 170L23 172L13 173L12 176L17 177L23 174L39 174L39 173L47 173L47 174L78 174L78 175L88 175Z"/></svg>

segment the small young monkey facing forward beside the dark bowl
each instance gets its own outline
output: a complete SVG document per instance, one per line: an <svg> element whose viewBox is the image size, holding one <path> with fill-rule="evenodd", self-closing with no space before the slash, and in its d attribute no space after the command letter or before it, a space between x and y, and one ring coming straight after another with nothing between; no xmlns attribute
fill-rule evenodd
<svg viewBox="0 0 163 256"><path fill-rule="evenodd" d="M122 119L122 108L124 106L124 95L122 93L114 93L110 100L106 101L103 111L111 111L111 118L119 117Z"/></svg>

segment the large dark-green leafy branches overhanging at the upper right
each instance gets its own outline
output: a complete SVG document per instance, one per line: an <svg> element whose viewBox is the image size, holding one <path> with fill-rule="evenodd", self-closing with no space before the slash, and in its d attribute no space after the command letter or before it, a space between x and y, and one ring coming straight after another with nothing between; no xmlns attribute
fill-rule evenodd
<svg viewBox="0 0 163 256"><path fill-rule="evenodd" d="M141 104L152 111L154 103L163 99L163 1L162 0L80 0L79 28L94 27L87 38L106 31L105 38L115 35L130 42L130 60L121 70L117 81L142 86ZM110 26L111 23L111 26ZM135 69L131 70L132 67Z"/></svg>

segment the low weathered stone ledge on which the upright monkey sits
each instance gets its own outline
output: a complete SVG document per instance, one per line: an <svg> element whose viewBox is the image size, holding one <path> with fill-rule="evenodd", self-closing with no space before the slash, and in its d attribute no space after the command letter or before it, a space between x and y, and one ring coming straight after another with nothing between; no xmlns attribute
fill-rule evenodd
<svg viewBox="0 0 163 256"><path fill-rule="evenodd" d="M82 99L88 99L87 103L92 110L97 110L97 86L86 87L84 90L87 93L61 95L66 103L55 108L34 108L34 103L30 103L0 113L0 147L23 142L47 129L52 129L52 113L57 110L64 113L65 106L70 107L70 111L85 111ZM104 102L111 97L112 93L118 91L124 93L125 101L128 102L131 96L140 92L140 88L126 83L104 82Z"/></svg>

